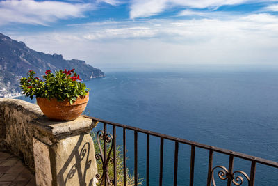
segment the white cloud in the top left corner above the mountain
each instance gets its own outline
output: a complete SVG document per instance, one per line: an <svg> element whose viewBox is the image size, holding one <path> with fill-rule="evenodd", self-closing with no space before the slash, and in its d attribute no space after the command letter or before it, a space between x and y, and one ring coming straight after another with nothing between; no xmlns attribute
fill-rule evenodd
<svg viewBox="0 0 278 186"><path fill-rule="evenodd" d="M83 17L91 4L58 1L6 0L0 1L0 25L11 22L47 25L58 19Z"/></svg>

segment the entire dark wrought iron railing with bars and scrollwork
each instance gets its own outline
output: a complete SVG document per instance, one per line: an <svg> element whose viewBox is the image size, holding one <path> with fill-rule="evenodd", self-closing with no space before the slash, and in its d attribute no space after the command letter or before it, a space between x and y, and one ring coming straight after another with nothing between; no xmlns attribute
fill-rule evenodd
<svg viewBox="0 0 278 186"><path fill-rule="evenodd" d="M223 148L218 148L215 146L208 146L205 144L199 144L194 141L188 141L186 139L180 139L177 137L171 137L166 134L160 134L157 132L152 132L149 130L143 130L137 127L131 127L129 125L122 125L119 123L113 123L110 121L101 120L99 118L94 118L90 116L85 116L91 118L95 122L100 122L104 124L103 130L97 132L97 142L99 144L100 153L96 154L95 157L97 160L102 163L102 173L101 175L97 174L96 178L101 181L105 186L106 185L117 185L117 162L116 162L116 127L122 128L122 144L123 144L123 164L124 164L124 186L126 186L126 130L131 130L134 132L134 185L138 185L138 132L147 134L147 147L146 147L146 185L149 186L149 137L154 136L160 138L160 170L159 170L159 185L163 185L163 148L164 140L174 141L174 182L173 185L177 185L177 176L178 176L178 154L179 154L179 144L187 144L191 146L191 155L190 155L190 179L189 185L193 186L194 183L194 168L195 168L195 148L202 148L209 150L208 158L208 171L207 171L207 182L206 185L211 186L215 184L215 179L213 173L218 169L218 177L221 180L227 180L227 186L242 185L243 180L246 179L248 186L254 186L255 182L255 173L256 173L256 164L264 164L267 166L272 166L278 168L278 162L273 162L270 160L265 160L260 157L254 157L251 155L246 155L243 153L234 152L231 150L226 150ZM107 125L113 126L113 135L107 133ZM101 141L103 141L103 147L101 146ZM107 149L107 145L111 144L111 148ZM104 148L102 150L102 148ZM111 152L113 152L113 157L111 157ZM213 167L213 153L222 153L229 155L229 167L225 166L214 166ZM251 162L250 175L244 171L234 171L234 157L238 157L243 160L248 160ZM108 164L113 164L113 179L108 176Z"/></svg>

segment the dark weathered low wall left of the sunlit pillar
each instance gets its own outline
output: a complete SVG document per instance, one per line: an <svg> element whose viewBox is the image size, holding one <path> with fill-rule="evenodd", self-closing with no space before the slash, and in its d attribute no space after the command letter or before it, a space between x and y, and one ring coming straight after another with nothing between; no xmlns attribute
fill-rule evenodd
<svg viewBox="0 0 278 186"><path fill-rule="evenodd" d="M32 121L43 117L40 107L22 100L1 98L0 114L0 149L22 157L34 171Z"/></svg>

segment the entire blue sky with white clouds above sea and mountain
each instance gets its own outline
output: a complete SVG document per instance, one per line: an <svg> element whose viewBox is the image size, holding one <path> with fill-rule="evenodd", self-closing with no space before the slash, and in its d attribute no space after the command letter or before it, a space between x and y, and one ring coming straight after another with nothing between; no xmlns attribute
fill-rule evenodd
<svg viewBox="0 0 278 186"><path fill-rule="evenodd" d="M0 33L98 68L278 65L278 0L6 0Z"/></svg>

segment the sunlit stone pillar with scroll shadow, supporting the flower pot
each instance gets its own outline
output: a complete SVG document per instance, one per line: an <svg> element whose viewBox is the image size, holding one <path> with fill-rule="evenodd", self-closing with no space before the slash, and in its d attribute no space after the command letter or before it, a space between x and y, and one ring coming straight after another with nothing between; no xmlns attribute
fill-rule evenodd
<svg viewBox="0 0 278 186"><path fill-rule="evenodd" d="M33 121L33 155L37 185L96 185L97 162L90 131L96 123L80 116L74 121Z"/></svg>

